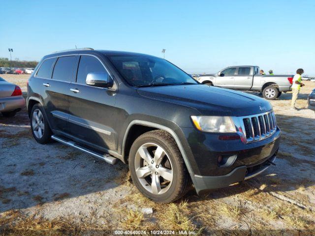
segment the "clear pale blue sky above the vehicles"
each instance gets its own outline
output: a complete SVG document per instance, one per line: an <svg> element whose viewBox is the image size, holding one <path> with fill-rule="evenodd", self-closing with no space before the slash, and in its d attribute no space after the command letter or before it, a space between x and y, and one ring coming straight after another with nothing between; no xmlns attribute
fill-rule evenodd
<svg viewBox="0 0 315 236"><path fill-rule="evenodd" d="M315 0L1 0L1 18L0 57L166 49L189 73L258 65L315 76Z"/></svg>

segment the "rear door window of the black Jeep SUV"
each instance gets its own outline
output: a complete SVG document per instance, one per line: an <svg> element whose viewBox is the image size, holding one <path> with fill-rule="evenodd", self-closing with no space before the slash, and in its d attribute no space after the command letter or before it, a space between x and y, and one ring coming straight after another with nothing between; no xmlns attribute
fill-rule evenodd
<svg viewBox="0 0 315 236"><path fill-rule="evenodd" d="M75 56L58 58L53 72L53 80L71 82L74 64Z"/></svg>

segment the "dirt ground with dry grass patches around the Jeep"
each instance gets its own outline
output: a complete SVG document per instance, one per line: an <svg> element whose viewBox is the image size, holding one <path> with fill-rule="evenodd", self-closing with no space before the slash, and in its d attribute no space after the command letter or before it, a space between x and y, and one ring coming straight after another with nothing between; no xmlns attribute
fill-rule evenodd
<svg viewBox="0 0 315 236"><path fill-rule="evenodd" d="M28 76L1 75L26 92ZM283 131L277 166L242 184L156 204L114 166L32 138L26 109L0 117L0 235L109 235L110 230L193 230L200 235L315 235L315 113L305 82L271 101ZM259 95L256 93L256 95ZM152 208L153 213L143 213Z"/></svg>

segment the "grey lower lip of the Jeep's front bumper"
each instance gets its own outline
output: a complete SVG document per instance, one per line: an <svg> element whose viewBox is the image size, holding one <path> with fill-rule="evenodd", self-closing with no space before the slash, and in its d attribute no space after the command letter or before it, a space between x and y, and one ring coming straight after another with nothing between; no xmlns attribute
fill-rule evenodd
<svg viewBox="0 0 315 236"><path fill-rule="evenodd" d="M224 176L193 175L191 176L191 178L194 183L194 187L199 194L204 190L228 187L233 183L255 177L267 170L270 165L275 161L275 159L276 155L273 155L264 162L254 165L252 167L240 166Z"/></svg>

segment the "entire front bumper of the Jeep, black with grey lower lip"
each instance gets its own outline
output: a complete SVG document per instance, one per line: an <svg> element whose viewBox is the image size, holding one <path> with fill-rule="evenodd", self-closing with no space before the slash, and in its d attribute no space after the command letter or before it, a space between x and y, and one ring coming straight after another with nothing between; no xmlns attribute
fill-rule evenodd
<svg viewBox="0 0 315 236"><path fill-rule="evenodd" d="M281 130L263 140L244 144L241 140L220 140L217 134L182 128L187 138L190 155L190 172L194 187L203 190L227 187L260 174L276 157L281 140ZM219 156L234 156L227 166L218 163ZM262 165L263 164L263 165ZM249 171L254 169L254 172Z"/></svg>

